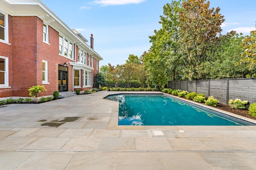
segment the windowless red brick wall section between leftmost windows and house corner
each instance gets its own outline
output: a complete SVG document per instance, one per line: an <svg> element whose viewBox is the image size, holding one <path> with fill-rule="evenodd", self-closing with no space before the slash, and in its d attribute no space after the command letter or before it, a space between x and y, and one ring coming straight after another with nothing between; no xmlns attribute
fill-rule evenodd
<svg viewBox="0 0 256 170"><path fill-rule="evenodd" d="M28 96L36 85L37 17L12 17L12 95Z"/></svg>

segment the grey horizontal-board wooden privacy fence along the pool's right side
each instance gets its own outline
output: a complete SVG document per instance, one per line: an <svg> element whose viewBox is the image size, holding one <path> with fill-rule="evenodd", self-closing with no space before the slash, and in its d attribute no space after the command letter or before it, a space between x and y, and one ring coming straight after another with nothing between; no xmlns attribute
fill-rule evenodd
<svg viewBox="0 0 256 170"><path fill-rule="evenodd" d="M248 100L249 104L256 103L256 78L170 81L168 88L214 96L220 104L228 105L230 99L236 98Z"/></svg>

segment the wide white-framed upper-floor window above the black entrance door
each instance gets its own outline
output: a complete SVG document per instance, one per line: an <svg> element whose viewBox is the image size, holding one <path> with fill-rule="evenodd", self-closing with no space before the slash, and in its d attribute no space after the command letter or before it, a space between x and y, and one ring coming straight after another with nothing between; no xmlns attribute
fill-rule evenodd
<svg viewBox="0 0 256 170"><path fill-rule="evenodd" d="M73 59L73 43L59 35L59 54Z"/></svg>

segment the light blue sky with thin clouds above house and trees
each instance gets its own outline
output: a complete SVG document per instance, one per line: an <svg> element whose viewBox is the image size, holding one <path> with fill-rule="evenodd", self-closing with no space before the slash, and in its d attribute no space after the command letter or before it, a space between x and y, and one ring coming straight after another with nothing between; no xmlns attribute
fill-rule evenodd
<svg viewBox="0 0 256 170"><path fill-rule="evenodd" d="M220 8L222 34L232 30L249 35L255 30L256 0L209 0ZM104 59L100 66L124 64L129 55L140 57L152 45L149 36L161 28L163 6L172 0L41 0L60 20L76 29Z"/></svg>

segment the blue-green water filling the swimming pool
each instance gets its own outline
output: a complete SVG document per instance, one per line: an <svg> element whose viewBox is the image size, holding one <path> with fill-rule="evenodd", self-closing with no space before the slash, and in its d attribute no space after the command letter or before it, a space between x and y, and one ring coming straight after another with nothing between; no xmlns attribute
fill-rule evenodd
<svg viewBox="0 0 256 170"><path fill-rule="evenodd" d="M116 94L105 99L119 102L118 125L254 125L163 94Z"/></svg>

